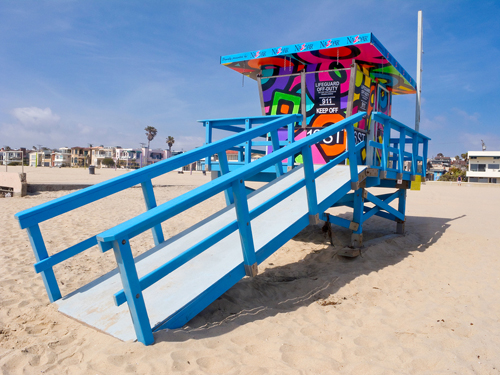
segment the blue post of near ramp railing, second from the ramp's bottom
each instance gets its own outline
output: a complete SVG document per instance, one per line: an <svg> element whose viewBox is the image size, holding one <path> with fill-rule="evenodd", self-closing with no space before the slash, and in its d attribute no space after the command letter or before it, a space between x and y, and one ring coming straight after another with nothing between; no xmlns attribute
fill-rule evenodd
<svg viewBox="0 0 500 375"><path fill-rule="evenodd" d="M243 264L247 276L256 276L258 272L257 257L252 236L252 226L250 223L250 212L248 210L247 194L243 180L232 183L234 194L234 205L236 208L236 218L240 233L241 248L243 250Z"/></svg>

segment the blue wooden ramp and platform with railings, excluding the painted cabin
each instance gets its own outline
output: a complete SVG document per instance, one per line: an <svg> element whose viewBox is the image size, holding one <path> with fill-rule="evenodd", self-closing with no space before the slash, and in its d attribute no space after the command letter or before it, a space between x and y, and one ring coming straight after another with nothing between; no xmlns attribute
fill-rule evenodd
<svg viewBox="0 0 500 375"><path fill-rule="evenodd" d="M210 126L230 127L237 134L17 213L50 301L62 313L103 332L149 345L154 331L183 326L241 278L255 276L262 261L310 223L328 218L328 223L349 228L354 245L362 244L363 222L373 215L396 221L398 231L404 230L406 189L425 176L429 138L373 112L371 120L383 127L383 139L376 142L369 133L360 141L354 128L363 116L364 112L357 113L299 141L291 139L283 147L278 129L297 126L302 116L207 120ZM346 134L347 150L315 166L311 146L339 131ZM391 138L391 133L397 137ZM265 137L273 151L231 168L226 150L245 147L259 137ZM299 153L303 163L291 163ZM213 155L219 178L156 204L151 179ZM409 170L404 169L405 162L410 163ZM263 173L272 175L267 179L271 182L247 195L245 181ZM137 184L144 195L144 213L49 255L39 223ZM396 191L375 196L366 190L377 186ZM226 208L164 239L164 221L222 192ZM389 205L394 199L397 209ZM352 207L352 221L325 214L336 205ZM134 259L130 239L149 230L155 247ZM113 250L117 269L63 297L53 267L96 244L102 252Z"/></svg>

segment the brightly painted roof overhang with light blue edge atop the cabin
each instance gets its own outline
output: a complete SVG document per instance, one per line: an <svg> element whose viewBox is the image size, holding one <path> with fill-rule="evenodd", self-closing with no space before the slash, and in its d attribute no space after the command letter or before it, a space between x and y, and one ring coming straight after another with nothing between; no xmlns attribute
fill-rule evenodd
<svg viewBox="0 0 500 375"><path fill-rule="evenodd" d="M416 82L372 33L221 56L221 64L252 79L348 68L355 59L394 94L416 93Z"/></svg>

